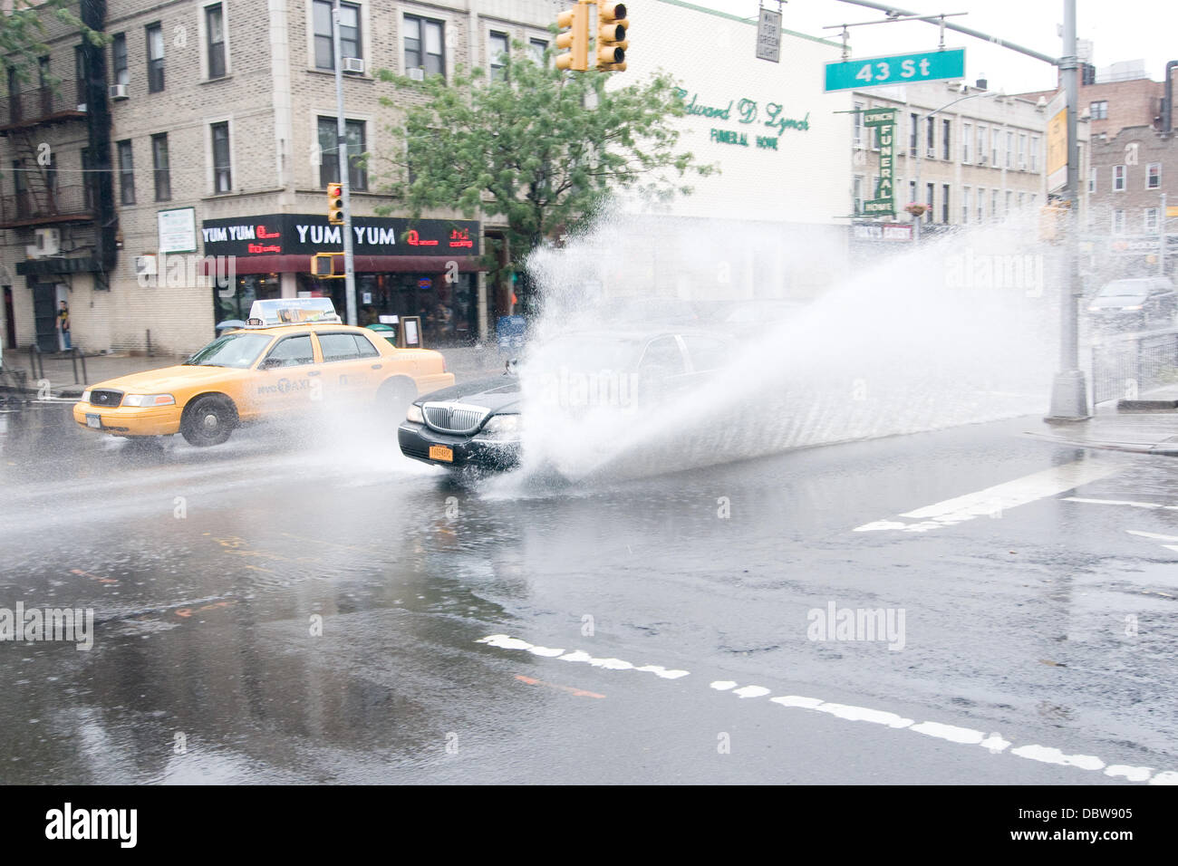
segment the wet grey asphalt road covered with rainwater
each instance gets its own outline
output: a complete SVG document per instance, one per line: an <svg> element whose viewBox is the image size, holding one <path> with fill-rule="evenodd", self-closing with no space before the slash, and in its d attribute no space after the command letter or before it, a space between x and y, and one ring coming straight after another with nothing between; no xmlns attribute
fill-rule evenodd
<svg viewBox="0 0 1178 866"><path fill-rule="evenodd" d="M0 779L1169 781L1178 467L1030 423L574 485L31 405L0 607L93 648L0 643Z"/></svg>

